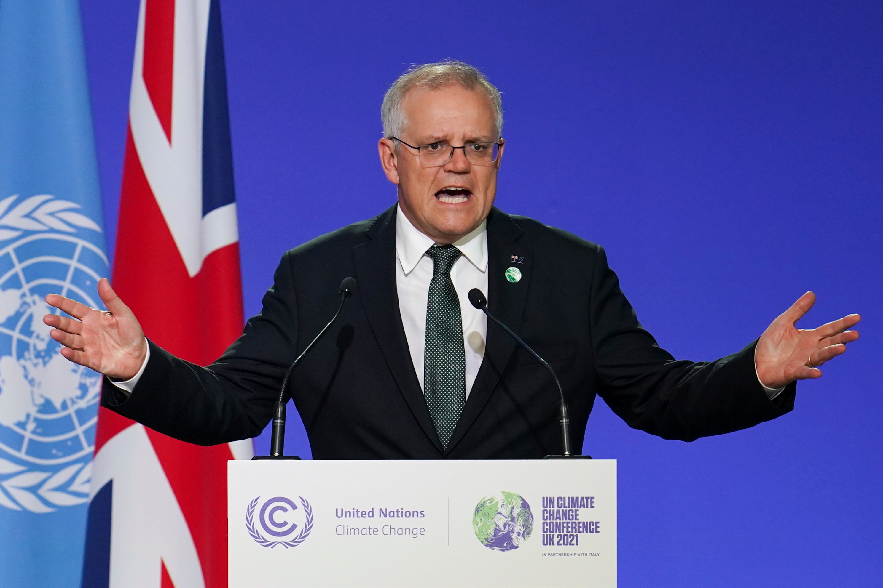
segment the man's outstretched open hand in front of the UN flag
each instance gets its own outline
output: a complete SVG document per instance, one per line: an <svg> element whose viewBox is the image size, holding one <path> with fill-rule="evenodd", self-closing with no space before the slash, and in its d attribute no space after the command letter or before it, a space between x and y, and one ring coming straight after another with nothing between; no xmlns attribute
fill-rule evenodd
<svg viewBox="0 0 883 588"><path fill-rule="evenodd" d="M49 294L46 303L73 318L46 315L43 323L55 327L49 336L64 346L61 354L66 359L111 379L129 380L147 357L147 339L132 310L119 299L105 278L98 280L98 295L107 311L90 309L70 298Z"/></svg>

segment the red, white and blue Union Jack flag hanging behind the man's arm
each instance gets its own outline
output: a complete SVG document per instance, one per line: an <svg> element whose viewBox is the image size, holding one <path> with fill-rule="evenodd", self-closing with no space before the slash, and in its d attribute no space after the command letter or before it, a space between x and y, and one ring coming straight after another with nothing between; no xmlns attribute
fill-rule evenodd
<svg viewBox="0 0 883 588"><path fill-rule="evenodd" d="M141 0L113 287L185 360L242 331L218 0ZM251 441L198 447L102 408L83 587L226 586L226 462L251 456Z"/></svg>

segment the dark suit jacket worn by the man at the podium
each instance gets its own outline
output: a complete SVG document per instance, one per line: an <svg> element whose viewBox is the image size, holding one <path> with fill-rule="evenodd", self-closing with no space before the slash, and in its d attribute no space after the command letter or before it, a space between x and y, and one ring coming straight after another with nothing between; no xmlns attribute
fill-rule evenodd
<svg viewBox="0 0 883 588"><path fill-rule="evenodd" d="M547 371L494 324L447 450L436 435L405 339L396 294L396 206L285 253L260 315L208 368L150 343L130 398L105 383L102 403L149 428L199 444L258 435L283 374L334 314L337 287L358 292L295 369L291 394L313 458L540 458L560 451L557 394ZM595 395L631 427L691 441L789 412L796 385L770 401L754 346L711 363L675 361L635 316L604 250L494 208L487 219L489 309L561 379L572 445L581 448ZM511 256L522 279L504 271Z"/></svg>

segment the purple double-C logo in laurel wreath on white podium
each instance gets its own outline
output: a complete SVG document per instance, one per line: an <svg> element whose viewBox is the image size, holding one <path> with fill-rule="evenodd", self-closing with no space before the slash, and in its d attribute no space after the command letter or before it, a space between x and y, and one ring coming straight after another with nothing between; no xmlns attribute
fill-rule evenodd
<svg viewBox="0 0 883 588"><path fill-rule="evenodd" d="M253 540L264 547L272 548L277 545L286 549L297 547L313 531L313 507L303 496L298 496L298 500L303 508L298 508L294 501L285 496L269 498L260 507L258 522L255 525L254 510L258 508L260 502L258 496L249 502L245 509L245 530ZM299 521L299 525L295 519ZM274 539L268 539L266 535Z"/></svg>

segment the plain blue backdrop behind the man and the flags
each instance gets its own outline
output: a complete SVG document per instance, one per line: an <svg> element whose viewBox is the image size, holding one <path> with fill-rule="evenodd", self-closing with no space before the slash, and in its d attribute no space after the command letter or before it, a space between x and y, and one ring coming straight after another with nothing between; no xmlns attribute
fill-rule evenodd
<svg viewBox="0 0 883 588"><path fill-rule="evenodd" d="M137 4L82 0L111 251ZM473 63L503 93L497 204L605 246L675 356L735 352L809 289L804 326L864 316L756 428L662 441L596 405L585 450L619 460L620 585L879 583L883 4L222 8L246 314L285 249L394 201L375 147L389 83Z"/></svg>

